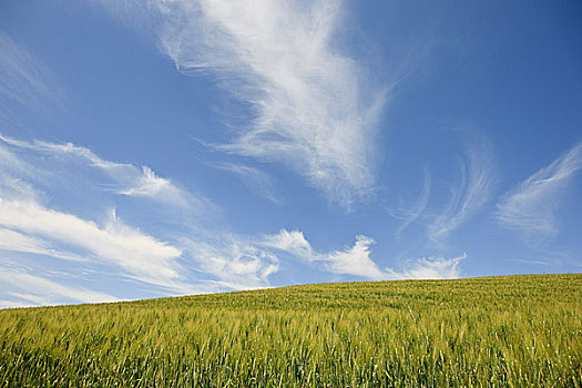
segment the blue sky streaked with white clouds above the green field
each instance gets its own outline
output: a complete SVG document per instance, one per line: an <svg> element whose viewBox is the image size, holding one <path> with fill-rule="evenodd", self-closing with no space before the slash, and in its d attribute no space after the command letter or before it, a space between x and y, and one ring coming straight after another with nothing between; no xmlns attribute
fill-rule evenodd
<svg viewBox="0 0 582 388"><path fill-rule="evenodd" d="M580 1L0 2L0 307L582 272Z"/></svg>

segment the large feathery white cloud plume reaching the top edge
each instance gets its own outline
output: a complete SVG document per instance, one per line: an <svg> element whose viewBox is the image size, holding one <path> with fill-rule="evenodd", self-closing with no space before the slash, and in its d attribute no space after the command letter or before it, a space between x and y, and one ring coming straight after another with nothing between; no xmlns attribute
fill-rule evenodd
<svg viewBox="0 0 582 388"><path fill-rule="evenodd" d="M136 7L101 2L125 16ZM377 121L389 90L369 82L339 45L343 1L149 6L160 48L177 70L210 74L249 109L247 122L233 123L233 141L216 149L284 163L345 208L372 192Z"/></svg>

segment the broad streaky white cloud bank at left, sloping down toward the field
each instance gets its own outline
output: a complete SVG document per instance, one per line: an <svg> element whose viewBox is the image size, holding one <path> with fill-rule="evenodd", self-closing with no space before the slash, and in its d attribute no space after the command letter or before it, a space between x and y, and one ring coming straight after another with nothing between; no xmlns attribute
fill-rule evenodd
<svg viewBox="0 0 582 388"><path fill-rule="evenodd" d="M65 269L73 277L99 265L162 295L264 287L278 270L274 254L206 219L198 207L213 207L210 201L149 167L106 161L71 143L2 135L0 160L0 251L24 262L78 262ZM131 206L147 214L145 223L137 217L141 228L118 217L115 204L123 197L124 204L139 201Z"/></svg>

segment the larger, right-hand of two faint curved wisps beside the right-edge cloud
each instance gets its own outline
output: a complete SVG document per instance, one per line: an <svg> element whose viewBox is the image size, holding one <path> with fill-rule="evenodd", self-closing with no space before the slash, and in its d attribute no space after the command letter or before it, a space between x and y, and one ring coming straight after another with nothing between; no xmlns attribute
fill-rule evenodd
<svg viewBox="0 0 582 388"><path fill-rule="evenodd" d="M436 243L482 210L496 186L490 141L473 133L466 144L464 155L460 184L451 188L448 205L429 225L429 237Z"/></svg>

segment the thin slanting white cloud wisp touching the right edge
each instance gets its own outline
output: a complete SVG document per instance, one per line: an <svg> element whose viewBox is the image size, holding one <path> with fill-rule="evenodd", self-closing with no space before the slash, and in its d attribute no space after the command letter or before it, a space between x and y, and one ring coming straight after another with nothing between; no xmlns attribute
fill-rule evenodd
<svg viewBox="0 0 582 388"><path fill-rule="evenodd" d="M555 236L555 211L561 194L582 169L582 143L574 145L507 193L497 206L497 218L506 227L528 235Z"/></svg>

